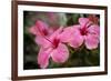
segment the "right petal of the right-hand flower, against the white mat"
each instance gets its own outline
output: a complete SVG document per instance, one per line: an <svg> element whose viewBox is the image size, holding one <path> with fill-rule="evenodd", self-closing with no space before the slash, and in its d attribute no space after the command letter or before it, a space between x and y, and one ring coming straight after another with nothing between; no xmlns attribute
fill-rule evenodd
<svg viewBox="0 0 111 81"><path fill-rule="evenodd" d="M93 26L88 28L88 32L99 37L100 36L100 27L98 24L93 24Z"/></svg>

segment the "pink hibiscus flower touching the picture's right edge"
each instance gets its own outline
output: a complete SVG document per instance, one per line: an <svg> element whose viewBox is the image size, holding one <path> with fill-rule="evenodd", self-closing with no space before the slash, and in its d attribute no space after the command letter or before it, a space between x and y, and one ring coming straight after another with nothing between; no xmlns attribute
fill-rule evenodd
<svg viewBox="0 0 111 81"><path fill-rule="evenodd" d="M100 27L93 24L88 18L80 18L79 23L63 30L62 42L67 42L73 48L79 48L83 42L89 50L98 48Z"/></svg>

